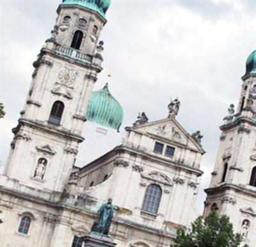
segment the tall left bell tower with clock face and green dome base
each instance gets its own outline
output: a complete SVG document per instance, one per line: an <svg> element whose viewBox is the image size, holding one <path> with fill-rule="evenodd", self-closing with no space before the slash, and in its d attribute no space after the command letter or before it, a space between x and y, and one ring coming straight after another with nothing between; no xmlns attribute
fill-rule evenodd
<svg viewBox="0 0 256 247"><path fill-rule="evenodd" d="M61 191L76 161L97 74L110 0L63 0L20 112L4 169L20 184Z"/></svg>

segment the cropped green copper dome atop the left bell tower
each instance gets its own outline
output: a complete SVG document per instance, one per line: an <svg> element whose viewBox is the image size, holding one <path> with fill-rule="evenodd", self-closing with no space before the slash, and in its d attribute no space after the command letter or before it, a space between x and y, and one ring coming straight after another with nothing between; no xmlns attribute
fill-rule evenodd
<svg viewBox="0 0 256 247"><path fill-rule="evenodd" d="M62 5L79 5L99 13L104 18L110 3L111 0L62 0Z"/></svg>

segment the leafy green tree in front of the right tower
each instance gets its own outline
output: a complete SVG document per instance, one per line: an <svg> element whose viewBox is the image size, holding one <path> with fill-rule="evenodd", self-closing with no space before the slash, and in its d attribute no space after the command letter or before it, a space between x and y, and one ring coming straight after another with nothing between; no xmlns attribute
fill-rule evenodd
<svg viewBox="0 0 256 247"><path fill-rule="evenodd" d="M171 247L239 247L242 240L240 234L234 234L228 216L212 212L205 219L198 217L189 231L179 228Z"/></svg>

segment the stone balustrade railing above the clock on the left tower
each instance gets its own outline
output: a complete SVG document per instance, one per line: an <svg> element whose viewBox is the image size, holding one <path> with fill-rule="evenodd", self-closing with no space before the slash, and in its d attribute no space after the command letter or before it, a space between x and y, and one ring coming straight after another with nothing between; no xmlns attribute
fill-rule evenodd
<svg viewBox="0 0 256 247"><path fill-rule="evenodd" d="M73 58L74 60L86 62L86 63L92 63L92 56L88 54L84 54L81 51L77 51L76 49L66 47L63 45L54 44L54 52L68 56L69 58Z"/></svg>

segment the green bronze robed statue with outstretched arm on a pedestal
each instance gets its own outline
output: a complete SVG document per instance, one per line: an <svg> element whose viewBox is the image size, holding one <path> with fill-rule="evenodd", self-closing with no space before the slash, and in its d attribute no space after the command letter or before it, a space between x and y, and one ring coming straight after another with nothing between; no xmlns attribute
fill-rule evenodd
<svg viewBox="0 0 256 247"><path fill-rule="evenodd" d="M109 198L107 203L101 205L97 213L97 220L91 229L92 233L108 236L114 211L118 210L118 207L112 205L112 202L113 200Z"/></svg>

